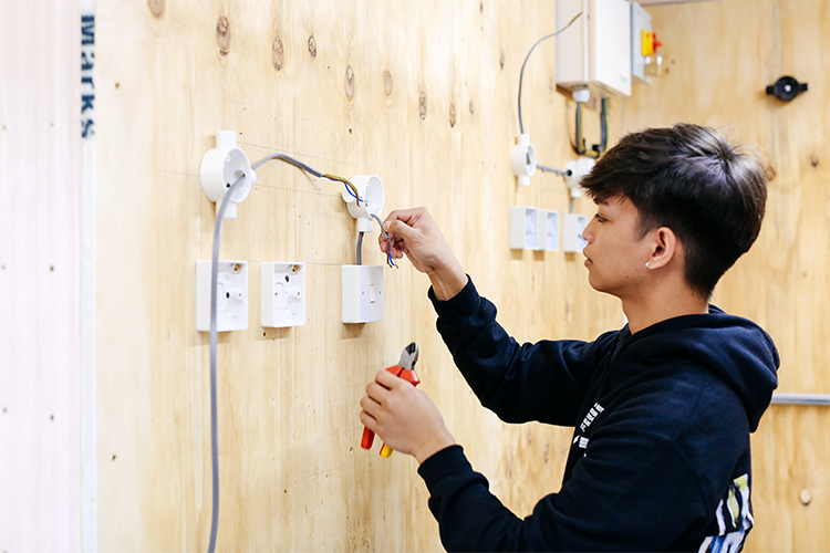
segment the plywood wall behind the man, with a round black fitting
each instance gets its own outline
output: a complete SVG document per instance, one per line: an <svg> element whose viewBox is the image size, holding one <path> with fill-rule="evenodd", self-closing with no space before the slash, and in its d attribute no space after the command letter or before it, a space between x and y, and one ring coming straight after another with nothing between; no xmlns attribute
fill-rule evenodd
<svg viewBox="0 0 830 553"><path fill-rule="evenodd" d="M692 121L722 128L768 163L769 199L753 250L715 303L766 327L780 390L830 393L830 2L722 1L650 7L665 74L622 103L622 131ZM765 94L782 75L809 91ZM772 406L754 437L756 530L748 550L830 551L827 407ZM799 500L807 490L809 504Z"/></svg>

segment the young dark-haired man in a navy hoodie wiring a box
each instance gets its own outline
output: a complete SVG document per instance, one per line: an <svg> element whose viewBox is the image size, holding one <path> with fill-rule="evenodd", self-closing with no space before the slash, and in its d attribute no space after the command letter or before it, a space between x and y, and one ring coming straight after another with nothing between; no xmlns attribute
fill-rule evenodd
<svg viewBox="0 0 830 553"><path fill-rule="evenodd" d="M749 432L778 354L708 300L758 236L764 171L715 131L675 125L625 136L582 185L598 206L583 232L589 282L629 319L590 343L518 344L425 209L384 225L392 255L429 276L438 332L481 404L507 422L574 427L560 491L518 519L426 394L385 371L361 421L416 457L447 550L740 551L753 528Z"/></svg>

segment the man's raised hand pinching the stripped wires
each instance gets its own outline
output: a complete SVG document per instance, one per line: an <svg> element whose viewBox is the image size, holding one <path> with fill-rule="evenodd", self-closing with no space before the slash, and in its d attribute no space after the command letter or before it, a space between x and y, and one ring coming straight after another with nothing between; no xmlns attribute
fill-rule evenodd
<svg viewBox="0 0 830 553"><path fill-rule="evenodd" d="M449 300L467 285L467 274L426 208L392 211L383 223L390 242L378 237L381 250L392 248L393 259L404 253L412 265L426 273L438 300Z"/></svg>

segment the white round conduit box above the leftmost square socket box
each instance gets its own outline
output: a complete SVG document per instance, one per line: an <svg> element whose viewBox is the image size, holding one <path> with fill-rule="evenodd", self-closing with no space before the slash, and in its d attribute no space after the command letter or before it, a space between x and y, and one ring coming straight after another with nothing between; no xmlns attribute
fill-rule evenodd
<svg viewBox="0 0 830 553"><path fill-rule="evenodd" d="M248 197L257 182L257 174L251 169L245 152L237 147L237 134L234 131L220 131L216 135L216 147L205 153L199 167L201 189L216 204L217 212L225 192L241 176L246 177L245 182L230 197L231 201L225 209L226 219L236 219L237 204Z"/></svg>

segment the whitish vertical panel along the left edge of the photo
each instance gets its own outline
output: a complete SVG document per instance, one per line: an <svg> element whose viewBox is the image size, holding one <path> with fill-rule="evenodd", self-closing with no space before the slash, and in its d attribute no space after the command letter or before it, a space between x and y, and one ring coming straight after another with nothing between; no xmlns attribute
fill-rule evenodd
<svg viewBox="0 0 830 553"><path fill-rule="evenodd" d="M79 2L0 4L0 550L80 551Z"/></svg>

